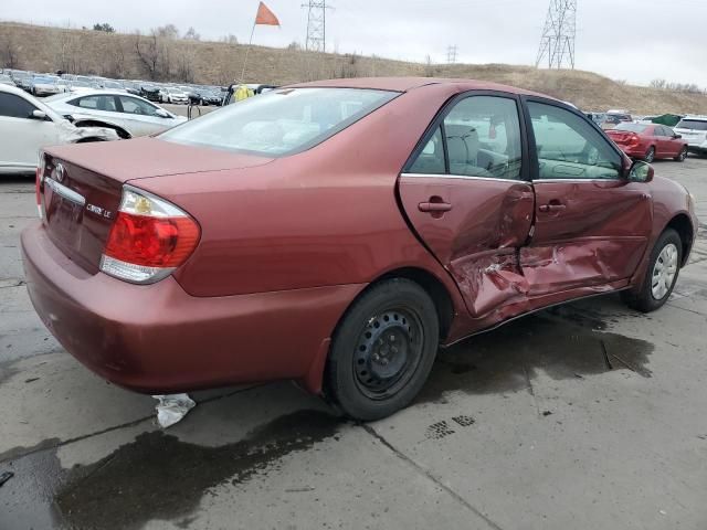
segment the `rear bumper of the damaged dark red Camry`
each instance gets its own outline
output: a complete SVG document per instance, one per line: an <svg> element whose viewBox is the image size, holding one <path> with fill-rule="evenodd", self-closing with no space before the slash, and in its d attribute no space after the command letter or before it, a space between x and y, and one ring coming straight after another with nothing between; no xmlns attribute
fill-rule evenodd
<svg viewBox="0 0 707 530"><path fill-rule="evenodd" d="M22 257L32 304L62 346L102 378L150 394L278 379L318 392L323 344L363 287L192 297L171 276L138 286L88 274L39 222L22 232Z"/></svg>

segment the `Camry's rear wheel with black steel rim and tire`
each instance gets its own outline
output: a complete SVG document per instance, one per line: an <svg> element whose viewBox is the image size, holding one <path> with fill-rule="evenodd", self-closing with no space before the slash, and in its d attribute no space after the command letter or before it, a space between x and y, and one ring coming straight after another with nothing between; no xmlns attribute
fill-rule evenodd
<svg viewBox="0 0 707 530"><path fill-rule="evenodd" d="M430 295L409 279L380 282L351 305L334 333L325 394L351 418L389 416L424 385L439 341Z"/></svg>

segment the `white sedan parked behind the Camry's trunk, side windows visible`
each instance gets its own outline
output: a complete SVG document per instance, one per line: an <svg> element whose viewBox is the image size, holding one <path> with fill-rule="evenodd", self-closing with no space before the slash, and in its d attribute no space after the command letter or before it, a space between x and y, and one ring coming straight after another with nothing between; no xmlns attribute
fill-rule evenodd
<svg viewBox="0 0 707 530"><path fill-rule="evenodd" d="M78 127L110 127L120 138L154 135L187 121L183 116L125 92L97 89L59 94L44 103Z"/></svg>

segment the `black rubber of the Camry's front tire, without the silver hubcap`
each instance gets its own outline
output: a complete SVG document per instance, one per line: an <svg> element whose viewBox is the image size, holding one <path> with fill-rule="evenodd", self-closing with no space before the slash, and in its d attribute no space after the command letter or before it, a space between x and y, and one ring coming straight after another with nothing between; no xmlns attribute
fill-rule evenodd
<svg viewBox="0 0 707 530"><path fill-rule="evenodd" d="M668 246L673 245L677 250L676 254L676 268L675 276L671 282L669 286L666 286L665 294L663 296L656 297L654 295L654 284L659 278L659 274L656 275L656 262L661 259L663 262L663 266L668 266L667 263L664 262L664 256L662 253ZM677 277L680 272L680 264L683 263L683 242L680 241L680 236L673 229L666 229L665 232L661 234L658 240L651 251L651 257L648 259L648 267L646 269L645 278L643 279L643 285L641 289L636 292L623 292L622 298L624 303L639 311L642 312L651 312L659 309L663 304L667 301L675 288L675 284L677 282ZM659 266L658 266L659 267Z"/></svg>

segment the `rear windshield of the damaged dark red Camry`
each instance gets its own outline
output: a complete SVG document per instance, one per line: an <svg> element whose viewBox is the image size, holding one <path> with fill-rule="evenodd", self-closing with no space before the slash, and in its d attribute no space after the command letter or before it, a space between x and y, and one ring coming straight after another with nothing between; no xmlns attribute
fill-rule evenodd
<svg viewBox="0 0 707 530"><path fill-rule="evenodd" d="M359 88L281 88L234 103L159 137L177 144L282 157L320 144L397 95Z"/></svg>

